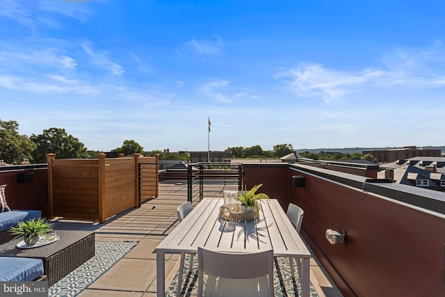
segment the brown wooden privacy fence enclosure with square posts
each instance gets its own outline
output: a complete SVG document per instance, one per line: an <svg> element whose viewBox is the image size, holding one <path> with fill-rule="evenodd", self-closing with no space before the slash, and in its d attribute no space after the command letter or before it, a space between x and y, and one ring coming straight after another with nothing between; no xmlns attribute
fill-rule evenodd
<svg viewBox="0 0 445 297"><path fill-rule="evenodd" d="M145 200L158 195L158 184L141 186L139 163L143 175L157 181L158 156L106 159L55 159L47 154L49 216L80 220L99 220L139 207L140 188ZM150 196L151 195L151 196Z"/></svg>

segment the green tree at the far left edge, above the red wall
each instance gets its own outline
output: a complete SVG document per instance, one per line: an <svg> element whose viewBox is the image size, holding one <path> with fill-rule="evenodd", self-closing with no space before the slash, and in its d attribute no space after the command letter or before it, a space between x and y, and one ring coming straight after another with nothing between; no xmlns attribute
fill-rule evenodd
<svg viewBox="0 0 445 297"><path fill-rule="evenodd" d="M19 124L0 119L0 159L10 164L29 159L33 162L32 152L37 146L28 136L19 134Z"/></svg>

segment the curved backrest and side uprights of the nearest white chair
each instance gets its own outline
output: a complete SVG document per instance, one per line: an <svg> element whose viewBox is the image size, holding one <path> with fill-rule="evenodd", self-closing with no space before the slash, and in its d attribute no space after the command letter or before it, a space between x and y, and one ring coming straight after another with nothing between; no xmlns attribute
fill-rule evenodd
<svg viewBox="0 0 445 297"><path fill-rule="evenodd" d="M229 279L249 279L268 276L268 294L273 296L273 250L253 253L217 252L197 248L198 295L202 294L204 271Z"/></svg>

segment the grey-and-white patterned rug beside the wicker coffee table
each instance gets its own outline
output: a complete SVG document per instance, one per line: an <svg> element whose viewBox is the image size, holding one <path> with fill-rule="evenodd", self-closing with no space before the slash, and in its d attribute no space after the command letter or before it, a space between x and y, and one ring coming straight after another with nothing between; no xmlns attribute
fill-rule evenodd
<svg viewBox="0 0 445 297"><path fill-rule="evenodd" d="M48 296L77 296L137 244L137 241L96 241L95 256L49 287Z"/></svg>

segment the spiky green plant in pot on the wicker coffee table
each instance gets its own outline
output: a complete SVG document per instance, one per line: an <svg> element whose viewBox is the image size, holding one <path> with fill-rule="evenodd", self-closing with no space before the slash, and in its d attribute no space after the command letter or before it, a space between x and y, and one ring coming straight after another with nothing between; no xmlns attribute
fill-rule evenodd
<svg viewBox="0 0 445 297"><path fill-rule="evenodd" d="M16 227L11 227L10 232L15 239L22 237L26 245L33 246L39 242L40 236L53 231L53 224L46 218L31 218L31 220L21 221Z"/></svg>

